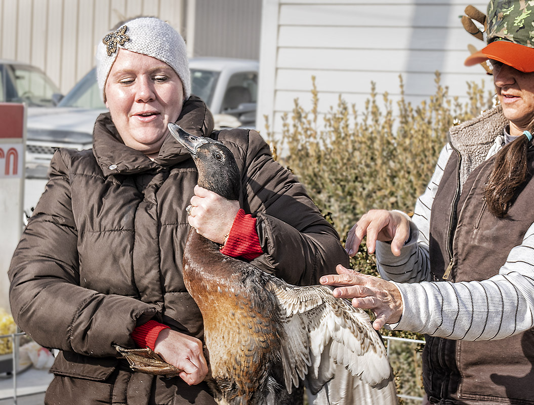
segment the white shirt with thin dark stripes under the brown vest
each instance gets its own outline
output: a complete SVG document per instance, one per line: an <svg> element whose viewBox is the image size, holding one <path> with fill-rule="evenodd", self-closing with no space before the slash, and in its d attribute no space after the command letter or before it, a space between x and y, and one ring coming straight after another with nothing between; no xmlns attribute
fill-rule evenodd
<svg viewBox="0 0 534 405"><path fill-rule="evenodd" d="M502 339L534 325L534 224L521 245L508 254L499 274L482 282L430 282L428 256L431 207L452 153L447 144L425 193L415 205L410 242L400 256L379 242L380 275L396 282L404 310L392 329L410 330L450 339ZM493 151L494 153L494 151Z"/></svg>

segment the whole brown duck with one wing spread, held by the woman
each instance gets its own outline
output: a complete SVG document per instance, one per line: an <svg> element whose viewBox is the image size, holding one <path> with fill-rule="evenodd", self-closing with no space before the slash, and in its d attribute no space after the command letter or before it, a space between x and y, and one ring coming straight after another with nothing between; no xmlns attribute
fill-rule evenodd
<svg viewBox="0 0 534 405"><path fill-rule="evenodd" d="M191 154L198 185L238 200L232 152L174 123L168 129ZM290 285L222 254L194 228L184 248L183 277L202 314L205 380L219 405L294 405L303 387L311 405L398 403L380 334L365 311L335 298L331 287ZM132 369L178 374L146 350L117 348Z"/></svg>

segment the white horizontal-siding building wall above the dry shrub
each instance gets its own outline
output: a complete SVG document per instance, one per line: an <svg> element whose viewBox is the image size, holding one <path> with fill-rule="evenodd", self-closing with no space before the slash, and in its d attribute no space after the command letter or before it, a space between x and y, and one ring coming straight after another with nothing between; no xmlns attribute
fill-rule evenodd
<svg viewBox="0 0 534 405"><path fill-rule="evenodd" d="M468 81L491 77L481 66L465 67L467 34L459 16L467 0L263 0L258 129L267 115L275 133L294 99L311 105L316 77L319 111L335 106L339 95L362 111L376 83L395 103L400 95L419 103L436 90L435 72L453 96L466 98ZM484 11L486 2L471 3Z"/></svg>

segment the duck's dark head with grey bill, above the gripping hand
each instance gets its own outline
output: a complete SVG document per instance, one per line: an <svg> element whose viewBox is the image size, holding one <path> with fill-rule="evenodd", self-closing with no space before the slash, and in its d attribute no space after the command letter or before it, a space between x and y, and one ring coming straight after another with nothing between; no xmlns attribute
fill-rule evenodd
<svg viewBox="0 0 534 405"><path fill-rule="evenodd" d="M188 134L175 123L167 127L191 153L199 172L198 184L228 200L239 199L239 169L232 152L221 142Z"/></svg>

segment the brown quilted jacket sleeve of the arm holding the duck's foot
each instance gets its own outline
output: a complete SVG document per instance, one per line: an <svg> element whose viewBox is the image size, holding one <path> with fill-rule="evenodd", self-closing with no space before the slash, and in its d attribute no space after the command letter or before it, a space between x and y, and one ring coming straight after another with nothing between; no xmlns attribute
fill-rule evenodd
<svg viewBox="0 0 534 405"><path fill-rule="evenodd" d="M54 155L50 181L14 252L11 310L20 328L45 347L114 355L112 344L132 346L130 333L156 310L133 298L80 286L68 159L63 152Z"/></svg>

